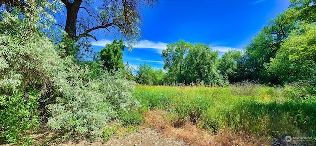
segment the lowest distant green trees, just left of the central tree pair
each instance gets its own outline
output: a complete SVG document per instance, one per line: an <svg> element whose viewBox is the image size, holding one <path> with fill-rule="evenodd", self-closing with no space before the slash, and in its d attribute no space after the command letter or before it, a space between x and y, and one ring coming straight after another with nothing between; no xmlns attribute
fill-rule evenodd
<svg viewBox="0 0 316 146"><path fill-rule="evenodd" d="M136 82L146 85L162 85L165 73L162 69L155 70L149 64L140 64L136 70Z"/></svg>

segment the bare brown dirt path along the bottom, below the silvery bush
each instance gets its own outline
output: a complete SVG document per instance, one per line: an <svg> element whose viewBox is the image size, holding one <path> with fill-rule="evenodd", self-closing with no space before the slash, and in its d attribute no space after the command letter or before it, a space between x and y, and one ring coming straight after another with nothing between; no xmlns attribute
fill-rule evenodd
<svg viewBox="0 0 316 146"><path fill-rule="evenodd" d="M133 132L128 136L112 135L110 139L103 143L103 139L93 142L85 138L62 140L57 138L56 133L41 133L34 141L35 146L189 146L184 141L174 138L167 138L157 130L140 127L138 132ZM12 146L12 145L4 145Z"/></svg>

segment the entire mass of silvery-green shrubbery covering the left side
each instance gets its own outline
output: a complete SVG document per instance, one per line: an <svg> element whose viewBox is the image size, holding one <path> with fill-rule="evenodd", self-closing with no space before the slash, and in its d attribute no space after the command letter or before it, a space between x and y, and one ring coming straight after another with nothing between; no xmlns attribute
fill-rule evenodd
<svg viewBox="0 0 316 146"><path fill-rule="evenodd" d="M122 70L109 73L98 70L98 63L61 58L58 46L36 25L39 15L25 13L33 17L23 19L16 11L0 21L1 141L25 140L27 130L46 118L48 128L61 129L66 137L101 136L102 128L118 119L118 110L137 107L134 82Z"/></svg>

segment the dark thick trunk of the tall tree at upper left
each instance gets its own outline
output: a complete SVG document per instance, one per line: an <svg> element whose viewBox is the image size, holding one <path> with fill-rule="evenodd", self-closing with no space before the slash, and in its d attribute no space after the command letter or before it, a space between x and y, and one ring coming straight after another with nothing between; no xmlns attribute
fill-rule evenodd
<svg viewBox="0 0 316 146"><path fill-rule="evenodd" d="M76 37L76 22L77 15L82 3L82 0L74 0L73 3L70 3L68 0L61 0L67 10L67 18L65 25L65 32L67 32L67 37L74 39Z"/></svg>

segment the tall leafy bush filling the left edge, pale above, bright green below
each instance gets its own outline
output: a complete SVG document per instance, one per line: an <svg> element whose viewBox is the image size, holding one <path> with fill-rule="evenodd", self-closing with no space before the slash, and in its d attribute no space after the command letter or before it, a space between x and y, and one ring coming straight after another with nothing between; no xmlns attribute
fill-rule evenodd
<svg viewBox="0 0 316 146"><path fill-rule="evenodd" d="M0 137L26 144L31 142L27 131L40 124L40 93L51 83L47 72L59 59L36 25L40 18L32 11L35 5L28 4L24 18L12 8L11 13L1 13L0 21Z"/></svg>

